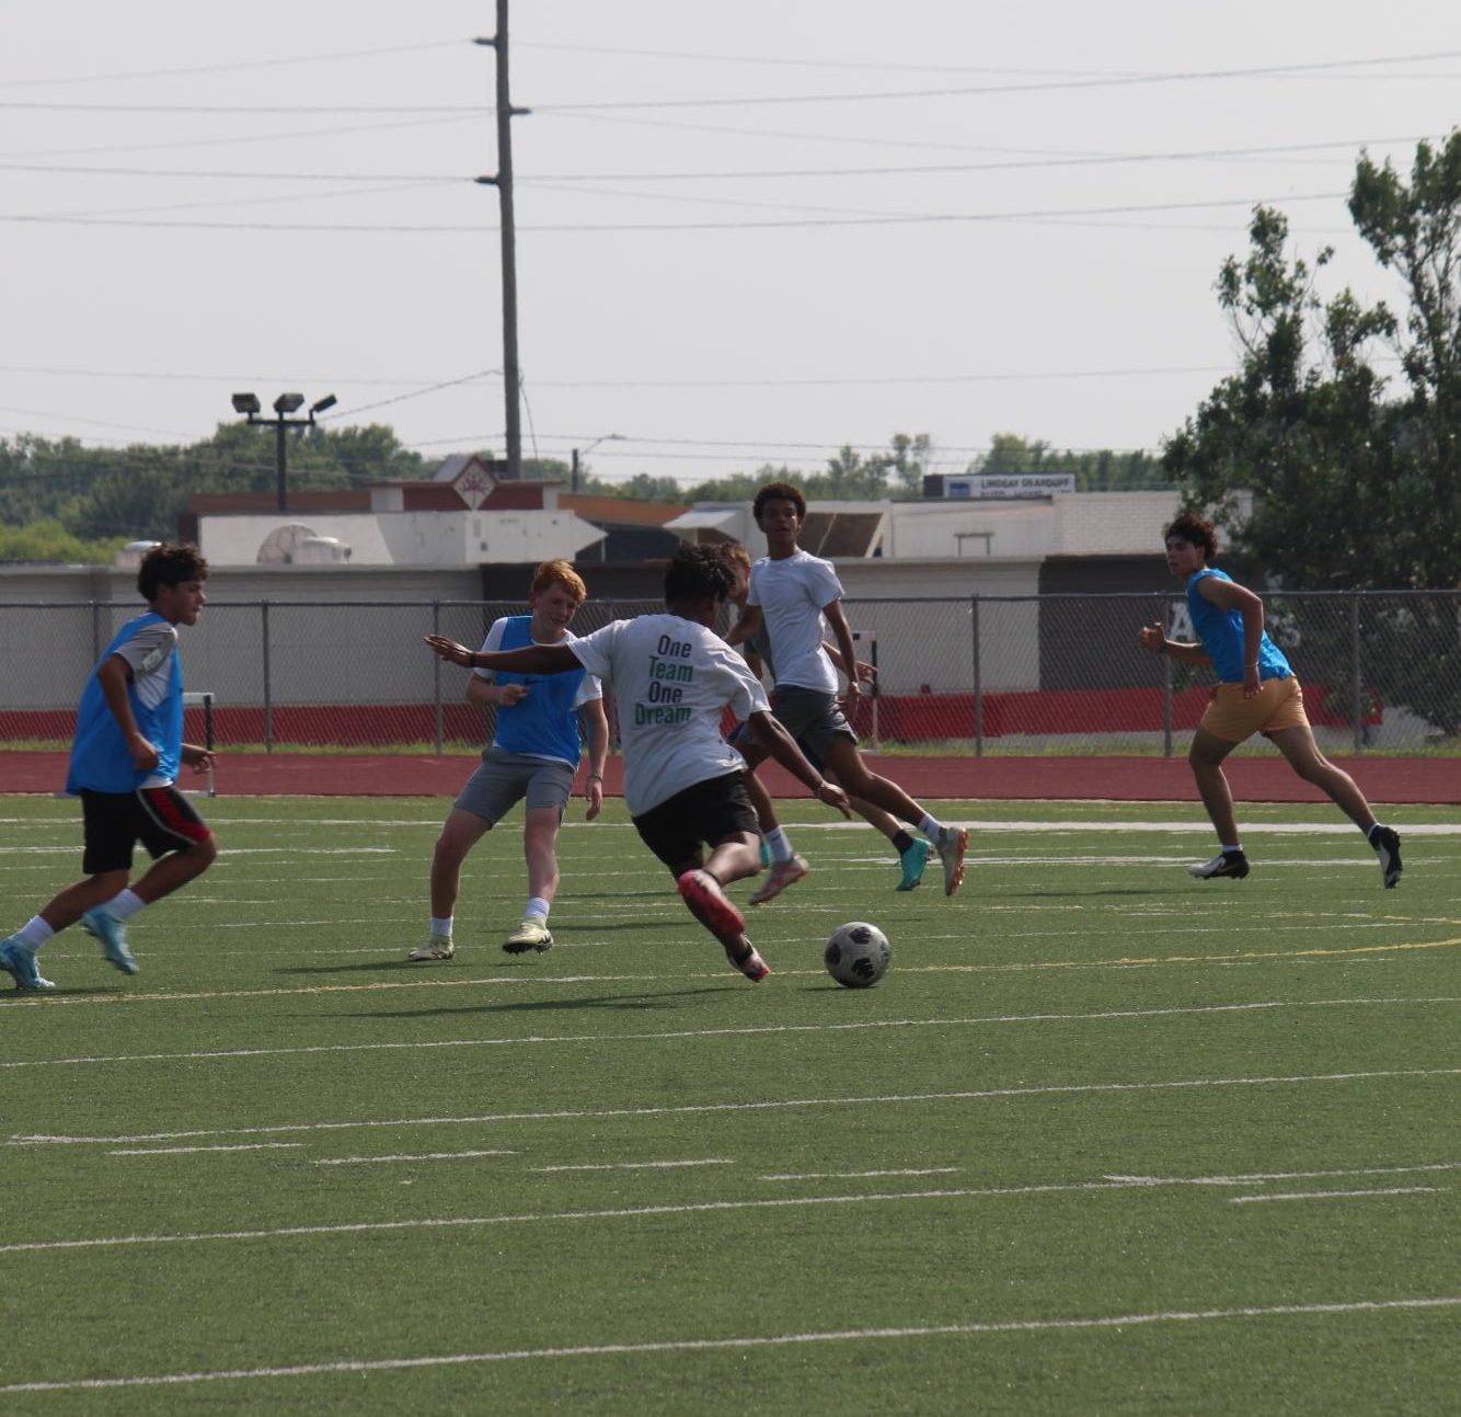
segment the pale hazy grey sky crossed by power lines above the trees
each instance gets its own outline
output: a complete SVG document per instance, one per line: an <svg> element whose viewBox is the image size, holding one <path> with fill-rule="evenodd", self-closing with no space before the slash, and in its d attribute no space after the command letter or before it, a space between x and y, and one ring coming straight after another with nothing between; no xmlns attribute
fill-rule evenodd
<svg viewBox="0 0 1461 1417"><path fill-rule="evenodd" d="M301 392L501 452L492 3L0 26L0 437L191 442ZM1334 246L1321 292L1394 303L1354 162L1461 118L1435 0L514 0L508 63L523 452L615 480L1160 450L1235 367L1254 206Z"/></svg>

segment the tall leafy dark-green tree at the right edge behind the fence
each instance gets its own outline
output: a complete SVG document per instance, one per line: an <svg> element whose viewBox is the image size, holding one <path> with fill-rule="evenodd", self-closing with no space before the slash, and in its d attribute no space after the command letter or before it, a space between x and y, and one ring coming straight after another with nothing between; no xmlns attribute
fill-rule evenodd
<svg viewBox="0 0 1461 1417"><path fill-rule="evenodd" d="M1229 257L1217 281L1239 369L1167 442L1163 464L1273 585L1451 589L1461 566L1461 133L1439 154L1420 143L1408 186L1362 156L1350 212L1401 278L1403 317L1349 290L1322 300L1316 278L1332 252L1312 266L1292 259L1287 221L1258 208L1246 257ZM1398 352L1403 396L1388 396L1376 347ZM1381 614L1386 651L1366 664L1375 687L1461 730L1455 600L1414 597ZM1306 630L1311 642L1318 633ZM1343 664L1341 646L1332 651Z"/></svg>

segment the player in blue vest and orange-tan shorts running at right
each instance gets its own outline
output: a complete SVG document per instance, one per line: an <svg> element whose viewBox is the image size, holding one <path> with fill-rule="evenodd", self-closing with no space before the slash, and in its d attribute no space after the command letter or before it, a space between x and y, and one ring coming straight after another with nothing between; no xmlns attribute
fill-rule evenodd
<svg viewBox="0 0 1461 1417"><path fill-rule="evenodd" d="M1331 763L1313 741L1303 712L1303 690L1284 652L1264 630L1264 602L1210 562L1217 556L1213 524L1194 512L1180 513L1166 531L1167 569L1186 579L1188 611L1199 645L1167 639L1161 624L1141 627L1140 643L1153 654L1170 655L1183 664L1205 664L1217 671L1202 721L1192 736L1188 762L1202 796L1202 806L1217 829L1221 851L1211 861L1189 866L1201 880L1226 876L1242 880L1249 873L1248 855L1237 839L1233 793L1223 772L1223 759L1245 738L1264 734L1306 782L1328 794L1365 832L1379 858L1381 880L1400 880L1400 836L1375 820L1354 779Z"/></svg>

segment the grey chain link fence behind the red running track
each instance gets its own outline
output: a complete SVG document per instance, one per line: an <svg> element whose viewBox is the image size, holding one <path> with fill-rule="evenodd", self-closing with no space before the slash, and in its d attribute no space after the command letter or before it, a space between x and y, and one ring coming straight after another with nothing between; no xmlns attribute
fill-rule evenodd
<svg viewBox="0 0 1461 1417"><path fill-rule="evenodd" d="M1461 750L1461 591L1289 592L1267 624L1303 683L1327 752ZM136 604L0 604L0 752L64 747L80 686ZM584 602L573 629L662 608ZM231 750L470 752L491 711L421 639L479 645L519 601L212 602L183 632L190 690L215 700ZM1137 643L1160 621L1194 639L1180 595L855 600L847 619L877 693L855 727L869 747L923 753L1180 755L1211 671ZM722 619L722 632L729 626ZM191 715L190 737L200 737ZM1248 750L1271 750L1256 740Z"/></svg>

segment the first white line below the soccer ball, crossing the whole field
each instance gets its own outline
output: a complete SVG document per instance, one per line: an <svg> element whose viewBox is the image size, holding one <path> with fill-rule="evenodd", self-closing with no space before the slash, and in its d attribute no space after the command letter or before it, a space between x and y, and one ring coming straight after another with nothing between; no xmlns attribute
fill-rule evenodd
<svg viewBox="0 0 1461 1417"><path fill-rule="evenodd" d="M814 971L805 971L814 972ZM745 1038L764 1034L836 1034L877 1028L972 1028L1001 1024L1100 1024L1112 1019L1180 1018L1201 1013L1254 1013L1268 1009L1347 1009L1392 1008L1414 1005L1461 1003L1461 996L1436 994L1401 999L1259 999L1245 1003L1167 1005L1157 1009L1096 1009L1064 1013L985 1013L964 1018L894 1018L856 1019L846 1024L747 1024L739 1028L672 1028L636 1034L527 1034L522 1038L413 1038L409 1041L377 1040L373 1043L313 1043L276 1048L209 1048L191 1053L111 1053L79 1057L32 1057L0 1062L0 1069L13 1068L77 1068L83 1065L115 1066L117 1063L177 1063L250 1057L285 1057L308 1053L393 1053L415 1048L504 1048L536 1047L551 1043L665 1043L675 1038Z"/></svg>

